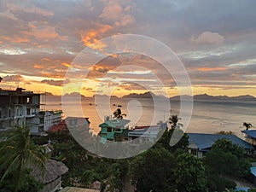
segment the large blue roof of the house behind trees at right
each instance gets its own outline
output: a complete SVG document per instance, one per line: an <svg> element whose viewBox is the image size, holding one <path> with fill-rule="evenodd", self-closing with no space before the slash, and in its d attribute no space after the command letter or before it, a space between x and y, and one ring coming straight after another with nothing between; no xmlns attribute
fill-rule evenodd
<svg viewBox="0 0 256 192"><path fill-rule="evenodd" d="M195 143L197 148L201 151L207 151L212 148L212 144L215 143L218 139L226 138L229 139L233 144L238 144L243 148L252 148L253 146L250 143L242 140L239 137L234 135L219 135L219 134L204 134L204 133L188 133L189 141Z"/></svg>

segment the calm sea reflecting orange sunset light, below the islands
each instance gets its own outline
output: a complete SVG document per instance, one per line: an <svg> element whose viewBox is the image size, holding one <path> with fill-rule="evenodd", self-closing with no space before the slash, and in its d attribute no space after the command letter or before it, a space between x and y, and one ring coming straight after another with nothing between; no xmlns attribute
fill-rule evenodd
<svg viewBox="0 0 256 192"><path fill-rule="evenodd" d="M83 99L78 102L71 96L68 101L61 103L61 97L48 96L43 99L44 110L64 109L64 117L88 117L92 130L97 133L99 126L106 115L121 105L122 113L126 114L125 119L130 119L130 127L135 125L155 125L158 121L166 121L171 114L179 115L179 102L166 102L159 100L154 103L148 98L111 98L108 101L104 98ZM186 132L216 133L218 131L232 131L238 137L242 137L241 130L243 122L249 122L256 128L256 102L223 102L223 101L194 101L189 125L183 127ZM83 113L79 113L81 108ZM189 113L189 112L185 112ZM180 123L186 120L186 116L180 116Z"/></svg>

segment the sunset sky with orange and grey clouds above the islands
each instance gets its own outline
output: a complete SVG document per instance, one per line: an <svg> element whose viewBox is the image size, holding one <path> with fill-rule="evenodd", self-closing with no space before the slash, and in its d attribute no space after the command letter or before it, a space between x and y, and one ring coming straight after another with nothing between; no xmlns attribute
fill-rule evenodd
<svg viewBox="0 0 256 192"><path fill-rule="evenodd" d="M256 96L255 7L254 0L1 0L0 88L178 95L178 82L148 55L106 55L93 66L73 62L86 48L103 49L95 46L102 38L137 34L172 49L194 95ZM69 70L79 71L79 90Z"/></svg>

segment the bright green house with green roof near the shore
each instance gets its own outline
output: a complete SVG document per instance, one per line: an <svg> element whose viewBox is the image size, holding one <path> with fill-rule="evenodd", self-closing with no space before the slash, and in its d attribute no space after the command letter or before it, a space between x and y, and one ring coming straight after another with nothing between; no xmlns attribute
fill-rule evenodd
<svg viewBox="0 0 256 192"><path fill-rule="evenodd" d="M104 123L99 125L101 131L99 136L102 137L101 142L106 143L107 140L117 141L119 139L125 139L125 135L123 135L124 131L128 132L129 126L127 124L130 123L128 119L110 119L109 117L105 118ZM127 136L128 140L128 136Z"/></svg>

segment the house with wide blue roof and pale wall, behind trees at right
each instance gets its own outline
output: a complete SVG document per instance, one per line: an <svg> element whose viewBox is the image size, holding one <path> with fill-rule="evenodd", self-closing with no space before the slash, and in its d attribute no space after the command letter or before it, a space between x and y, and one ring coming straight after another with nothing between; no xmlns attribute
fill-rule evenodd
<svg viewBox="0 0 256 192"><path fill-rule="evenodd" d="M226 138L232 143L240 145L245 148L248 155L252 155L254 148L250 143L242 140L234 135L219 135L219 134L204 134L204 133L188 133L189 136L189 153L197 157L204 156L211 150L212 144L218 139Z"/></svg>

